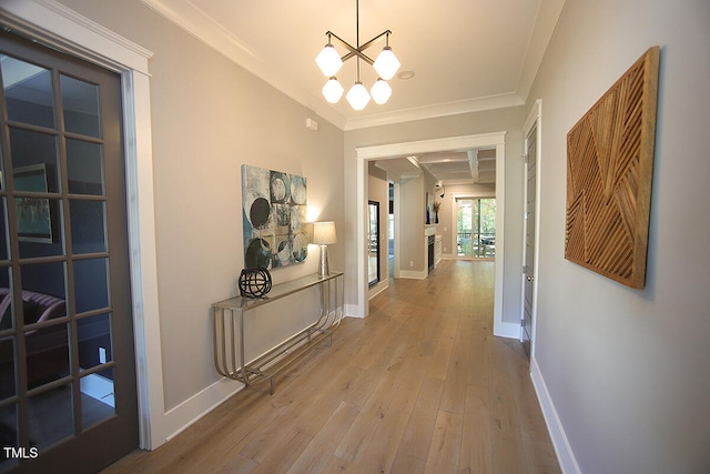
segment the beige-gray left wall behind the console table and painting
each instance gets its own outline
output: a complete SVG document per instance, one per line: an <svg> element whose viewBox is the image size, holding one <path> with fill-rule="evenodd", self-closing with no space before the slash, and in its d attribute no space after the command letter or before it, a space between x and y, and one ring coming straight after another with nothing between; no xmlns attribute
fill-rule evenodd
<svg viewBox="0 0 710 474"><path fill-rule="evenodd" d="M236 294L243 268L241 165L305 177L312 216L335 221L343 239L344 133L138 0L62 3L154 52L149 65L155 233L169 410L220 379L211 304ZM318 121L317 132L305 128L306 118ZM343 268L343 248L328 246L334 270ZM306 263L273 271L274 282L314 273L318 253L312 251ZM257 334L284 331L278 321L262 322ZM268 346L258 342L260 349Z"/></svg>

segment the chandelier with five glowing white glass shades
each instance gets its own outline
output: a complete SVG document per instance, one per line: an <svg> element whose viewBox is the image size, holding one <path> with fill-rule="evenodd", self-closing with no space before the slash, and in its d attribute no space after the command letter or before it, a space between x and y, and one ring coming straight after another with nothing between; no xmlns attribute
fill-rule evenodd
<svg viewBox="0 0 710 474"><path fill-rule="evenodd" d="M333 33L332 31L327 31L325 34L328 37L328 43L318 53L315 62L318 64L318 68L321 68L321 72L323 72L323 74L328 78L325 85L323 85L323 97L325 97L325 100L327 100L329 103L337 103L337 101L341 100L341 97L343 97L343 92L345 91L345 89L343 89L343 85L341 85L335 74L341 70L341 67L345 61L351 58L357 58L357 80L347 92L347 95L345 95L345 99L347 99L353 109L363 110L369 102L371 94L375 103L383 104L387 102L387 100L392 95L392 88L389 87L387 81L395 77L400 64L395 53L392 52L392 48L389 48L389 34L392 34L392 31L389 30L377 34L375 38L362 46L359 44L358 1L355 2L355 19L357 47L352 47L337 34ZM377 59L373 61L363 51L381 40L383 37L385 38L385 47L383 48ZM349 52L341 58L338 52L335 50L335 47L333 46L332 41L334 39L337 40L337 42L345 47ZM378 75L375 84L369 90L369 93L359 80L361 60L371 64Z"/></svg>

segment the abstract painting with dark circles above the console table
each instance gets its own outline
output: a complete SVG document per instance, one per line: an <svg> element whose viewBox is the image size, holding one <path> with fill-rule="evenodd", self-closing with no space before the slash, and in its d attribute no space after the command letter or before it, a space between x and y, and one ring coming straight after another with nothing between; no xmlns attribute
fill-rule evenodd
<svg viewBox="0 0 710 474"><path fill-rule="evenodd" d="M276 269L308 255L305 178L242 165L244 266Z"/></svg>

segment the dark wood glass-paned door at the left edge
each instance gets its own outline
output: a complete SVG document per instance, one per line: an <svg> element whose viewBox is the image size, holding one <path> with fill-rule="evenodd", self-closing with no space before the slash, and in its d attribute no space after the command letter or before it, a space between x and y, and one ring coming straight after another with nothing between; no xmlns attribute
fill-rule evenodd
<svg viewBox="0 0 710 474"><path fill-rule="evenodd" d="M138 445L120 78L3 32L0 83L0 473L92 472Z"/></svg>

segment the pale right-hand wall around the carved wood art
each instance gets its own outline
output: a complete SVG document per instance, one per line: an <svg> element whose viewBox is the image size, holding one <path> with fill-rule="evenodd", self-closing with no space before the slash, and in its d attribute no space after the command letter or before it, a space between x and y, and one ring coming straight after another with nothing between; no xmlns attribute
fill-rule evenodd
<svg viewBox="0 0 710 474"><path fill-rule="evenodd" d="M566 134L661 47L647 284L564 259ZM568 0L529 103L542 99L539 370L568 472L710 472L710 2ZM506 246L507 249L507 246ZM544 387L542 387L544 389ZM565 453L564 453L565 454Z"/></svg>

